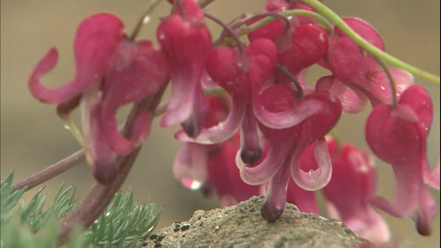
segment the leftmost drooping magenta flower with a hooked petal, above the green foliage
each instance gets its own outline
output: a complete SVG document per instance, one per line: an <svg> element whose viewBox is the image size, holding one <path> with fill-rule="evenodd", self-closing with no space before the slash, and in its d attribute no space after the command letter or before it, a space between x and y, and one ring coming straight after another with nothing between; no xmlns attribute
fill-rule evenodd
<svg viewBox="0 0 441 248"><path fill-rule="evenodd" d="M50 89L40 77L58 61L57 50L51 48L30 76L30 92L39 101L57 104L63 118L81 105L83 145L90 150L92 173L100 183L110 183L116 176L116 155L127 154L147 138L152 118L147 111L135 116L129 140L117 129L116 111L161 90L168 79L167 61L150 41L128 39L121 20L108 13L94 14L79 25L74 55L74 79Z"/></svg>

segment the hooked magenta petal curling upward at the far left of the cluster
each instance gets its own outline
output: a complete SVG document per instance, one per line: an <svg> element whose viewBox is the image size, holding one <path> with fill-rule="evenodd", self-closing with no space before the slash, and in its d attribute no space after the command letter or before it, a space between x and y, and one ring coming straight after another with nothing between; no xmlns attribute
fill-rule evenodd
<svg viewBox="0 0 441 248"><path fill-rule="evenodd" d="M39 99L39 101L45 103L63 103L80 94L81 90L83 90L76 87L74 80L55 89L50 89L41 84L40 77L54 68L57 64L58 57L57 49L51 48L39 61L30 76L28 84L30 92L32 96Z"/></svg>

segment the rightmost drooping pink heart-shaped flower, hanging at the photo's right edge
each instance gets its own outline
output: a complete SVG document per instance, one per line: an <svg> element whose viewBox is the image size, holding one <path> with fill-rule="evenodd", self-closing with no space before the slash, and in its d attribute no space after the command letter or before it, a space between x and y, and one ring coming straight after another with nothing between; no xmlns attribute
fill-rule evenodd
<svg viewBox="0 0 441 248"><path fill-rule="evenodd" d="M440 187L439 173L429 173L426 155L432 118L429 94L420 85L412 85L402 93L398 105L374 107L365 127L372 152L392 166L396 178L393 202L377 196L372 204L393 216L413 218L422 235L431 234L435 214L435 202L424 184Z"/></svg>

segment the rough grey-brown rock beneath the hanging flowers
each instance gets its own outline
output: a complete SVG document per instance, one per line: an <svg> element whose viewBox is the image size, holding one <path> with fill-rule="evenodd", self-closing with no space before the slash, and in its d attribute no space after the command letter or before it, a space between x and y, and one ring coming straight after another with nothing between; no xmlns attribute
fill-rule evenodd
<svg viewBox="0 0 441 248"><path fill-rule="evenodd" d="M292 204L279 220L267 223L260 215L262 203L263 196L254 196L236 206L195 211L188 221L156 231L146 247L375 247L343 223L302 213Z"/></svg>

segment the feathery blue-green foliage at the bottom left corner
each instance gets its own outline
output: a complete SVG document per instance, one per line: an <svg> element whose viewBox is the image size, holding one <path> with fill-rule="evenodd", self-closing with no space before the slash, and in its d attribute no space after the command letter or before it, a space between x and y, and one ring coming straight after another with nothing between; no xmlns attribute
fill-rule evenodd
<svg viewBox="0 0 441 248"><path fill-rule="evenodd" d="M21 201L14 211L26 189L14 191L13 178L12 172L1 181L1 248L57 247L58 220L74 209L75 188L64 189L63 183L46 211L43 210L46 196L41 195L42 188L28 205ZM88 230L74 230L63 247L142 247L139 240L152 233L162 212L161 208L154 214L154 208L154 203L135 203L131 188L125 196L118 192L101 218Z"/></svg>

